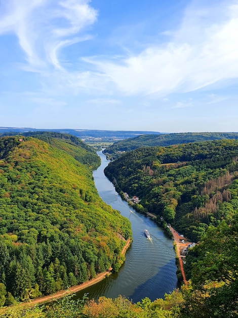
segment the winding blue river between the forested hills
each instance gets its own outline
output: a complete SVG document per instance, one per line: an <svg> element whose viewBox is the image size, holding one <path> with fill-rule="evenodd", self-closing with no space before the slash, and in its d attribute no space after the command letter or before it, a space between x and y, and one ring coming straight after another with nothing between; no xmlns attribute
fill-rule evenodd
<svg viewBox="0 0 238 318"><path fill-rule="evenodd" d="M151 300L164 298L165 293L172 292L177 287L175 251L173 241L164 231L157 227L154 221L145 215L135 212L126 201L115 192L113 184L105 177L104 169L108 165L102 151L101 166L94 171L94 181L99 196L113 209L119 210L131 221L133 241L126 252L126 261L116 274L76 294L82 298L88 293L90 299L97 300L100 296L115 298L125 296L133 302L148 297ZM145 237L147 229L151 238Z"/></svg>

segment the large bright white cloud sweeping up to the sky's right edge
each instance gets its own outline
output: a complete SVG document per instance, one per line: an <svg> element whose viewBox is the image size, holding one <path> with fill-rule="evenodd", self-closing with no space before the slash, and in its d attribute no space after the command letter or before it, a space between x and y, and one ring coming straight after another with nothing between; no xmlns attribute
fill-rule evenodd
<svg viewBox="0 0 238 318"><path fill-rule="evenodd" d="M188 92L238 77L238 2L193 2L172 40L119 62L89 59L126 94Z"/></svg>

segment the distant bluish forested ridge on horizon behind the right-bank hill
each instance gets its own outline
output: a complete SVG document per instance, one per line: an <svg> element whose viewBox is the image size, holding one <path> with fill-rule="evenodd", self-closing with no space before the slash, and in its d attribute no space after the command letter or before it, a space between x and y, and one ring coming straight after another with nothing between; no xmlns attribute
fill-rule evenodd
<svg viewBox="0 0 238 318"><path fill-rule="evenodd" d="M238 139L238 133L174 133L161 135L142 135L115 142L108 146L104 153L110 158L118 158L122 152L137 149L142 146L169 146L196 141Z"/></svg>

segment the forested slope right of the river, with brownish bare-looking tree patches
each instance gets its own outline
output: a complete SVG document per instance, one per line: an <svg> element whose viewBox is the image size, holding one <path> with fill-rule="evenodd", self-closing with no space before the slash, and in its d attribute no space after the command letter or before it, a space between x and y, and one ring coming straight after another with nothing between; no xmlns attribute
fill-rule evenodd
<svg viewBox="0 0 238 318"><path fill-rule="evenodd" d="M238 141L141 147L111 162L106 176L118 192L136 195L136 208L164 217L192 241L230 213L227 186L237 177ZM232 213L231 213L232 214Z"/></svg>

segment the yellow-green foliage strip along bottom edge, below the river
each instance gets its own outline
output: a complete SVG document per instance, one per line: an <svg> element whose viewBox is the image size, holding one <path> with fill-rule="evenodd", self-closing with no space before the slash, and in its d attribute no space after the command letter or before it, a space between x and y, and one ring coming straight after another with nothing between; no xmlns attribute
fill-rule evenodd
<svg viewBox="0 0 238 318"><path fill-rule="evenodd" d="M59 300L53 306L43 308L21 308L13 306L2 310L3 318L179 318L180 309L184 306L182 293L175 291L166 295L165 300L151 302L148 298L133 304L130 300L119 296L115 299L100 297L98 302L91 300L73 301L70 297ZM0 311L1 314L1 311ZM34 315L35 314L35 315Z"/></svg>

